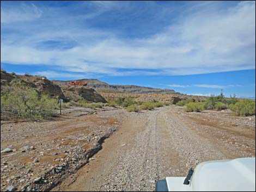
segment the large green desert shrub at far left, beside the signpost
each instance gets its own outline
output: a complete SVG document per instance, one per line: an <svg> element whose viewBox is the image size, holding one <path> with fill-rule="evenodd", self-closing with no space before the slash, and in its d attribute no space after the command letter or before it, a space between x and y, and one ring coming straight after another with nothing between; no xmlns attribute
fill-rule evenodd
<svg viewBox="0 0 256 192"><path fill-rule="evenodd" d="M57 109L57 100L22 84L13 84L7 92L1 92L1 117L20 119L50 117Z"/></svg>

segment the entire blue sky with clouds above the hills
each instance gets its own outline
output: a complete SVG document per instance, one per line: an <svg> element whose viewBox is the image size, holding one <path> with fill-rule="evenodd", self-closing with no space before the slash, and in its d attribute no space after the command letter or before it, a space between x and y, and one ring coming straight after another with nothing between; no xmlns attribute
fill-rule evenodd
<svg viewBox="0 0 256 192"><path fill-rule="evenodd" d="M255 2L1 1L1 67L255 98Z"/></svg>

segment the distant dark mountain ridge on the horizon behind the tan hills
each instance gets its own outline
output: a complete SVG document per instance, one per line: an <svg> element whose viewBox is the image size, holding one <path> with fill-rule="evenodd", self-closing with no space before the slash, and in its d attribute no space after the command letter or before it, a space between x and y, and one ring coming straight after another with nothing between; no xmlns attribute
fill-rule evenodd
<svg viewBox="0 0 256 192"><path fill-rule="evenodd" d="M83 80L88 83L88 86L90 88L94 89L106 89L106 90L113 90L123 93L132 93L132 94L147 94L149 92L156 92L156 93L162 93L162 94L179 94L179 92L176 92L172 89L158 89L158 88L150 88L147 86L138 86L138 85L112 85L107 84L105 82L102 82L98 79L77 79L77 80ZM74 80L52 80L53 83L56 84L68 84L69 82Z"/></svg>

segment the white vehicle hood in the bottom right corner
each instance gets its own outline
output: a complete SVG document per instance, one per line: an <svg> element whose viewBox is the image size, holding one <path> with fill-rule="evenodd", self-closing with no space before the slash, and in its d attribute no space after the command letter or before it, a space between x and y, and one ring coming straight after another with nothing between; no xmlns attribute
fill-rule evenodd
<svg viewBox="0 0 256 192"><path fill-rule="evenodd" d="M185 177L167 177L169 191L255 191L255 158L200 163L189 185Z"/></svg>

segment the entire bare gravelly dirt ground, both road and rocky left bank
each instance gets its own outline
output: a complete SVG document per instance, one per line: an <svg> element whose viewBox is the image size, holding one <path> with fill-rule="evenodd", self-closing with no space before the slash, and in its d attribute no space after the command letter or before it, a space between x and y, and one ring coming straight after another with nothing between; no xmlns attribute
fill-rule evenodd
<svg viewBox="0 0 256 192"><path fill-rule="evenodd" d="M1 191L153 191L200 162L255 157L255 116L178 106L92 113L1 124L1 151L13 150L1 153Z"/></svg>

